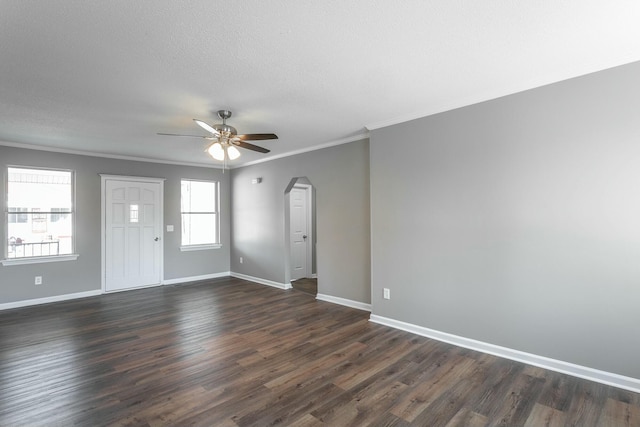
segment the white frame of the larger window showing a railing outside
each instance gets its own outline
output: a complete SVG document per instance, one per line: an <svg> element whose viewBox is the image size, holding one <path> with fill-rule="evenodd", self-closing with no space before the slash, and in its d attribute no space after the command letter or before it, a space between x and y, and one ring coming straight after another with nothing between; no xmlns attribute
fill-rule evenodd
<svg viewBox="0 0 640 427"><path fill-rule="evenodd" d="M17 215L22 212L9 212L9 169L32 169L32 170L40 170L40 171L52 171L52 172L69 172L71 175L70 185L71 185L71 208L68 214L71 214L71 253L70 254L62 254L62 255L40 255L40 256L30 256L30 257L22 257L22 258L9 258L8 253L8 240L9 240L9 217L10 215ZM42 167L42 166L25 166L25 165L5 165L4 171L4 215L3 215L3 227L4 227L4 235L6 236L6 242L3 242L4 249L2 250L2 259L0 259L0 264L3 266L11 266L11 265L24 265L24 264L40 264L40 263L49 263L49 262L62 262L62 261L75 261L78 259L78 254L76 253L76 172L73 169L66 168L54 168L54 167ZM49 216L52 212L42 212L41 215ZM67 213L67 212L65 212ZM31 212L27 212L28 214L32 214Z"/></svg>

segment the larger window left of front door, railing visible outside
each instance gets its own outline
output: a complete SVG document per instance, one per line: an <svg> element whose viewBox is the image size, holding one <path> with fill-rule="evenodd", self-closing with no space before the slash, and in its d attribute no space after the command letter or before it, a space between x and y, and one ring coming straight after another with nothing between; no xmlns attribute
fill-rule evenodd
<svg viewBox="0 0 640 427"><path fill-rule="evenodd" d="M3 265L75 259L73 172L7 169L7 242Z"/></svg>

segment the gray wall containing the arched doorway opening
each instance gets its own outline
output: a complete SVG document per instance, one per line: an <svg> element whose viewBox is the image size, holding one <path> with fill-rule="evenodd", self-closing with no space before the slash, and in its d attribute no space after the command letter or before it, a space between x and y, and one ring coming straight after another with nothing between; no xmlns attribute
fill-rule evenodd
<svg viewBox="0 0 640 427"><path fill-rule="evenodd" d="M369 141L357 141L231 171L231 270L287 283L285 189L315 188L318 292L369 303ZM262 177L261 184L251 184ZM244 258L240 264L239 258Z"/></svg>

